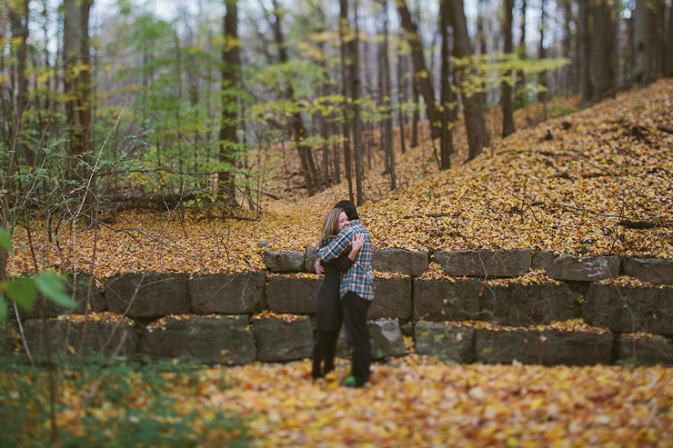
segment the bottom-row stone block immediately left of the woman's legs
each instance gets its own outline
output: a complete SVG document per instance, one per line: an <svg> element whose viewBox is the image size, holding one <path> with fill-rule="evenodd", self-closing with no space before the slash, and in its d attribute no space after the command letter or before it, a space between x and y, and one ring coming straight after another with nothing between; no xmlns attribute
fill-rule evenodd
<svg viewBox="0 0 673 448"><path fill-rule="evenodd" d="M313 353L313 325L308 316L256 315L253 331L257 361L280 363L307 358Z"/></svg>

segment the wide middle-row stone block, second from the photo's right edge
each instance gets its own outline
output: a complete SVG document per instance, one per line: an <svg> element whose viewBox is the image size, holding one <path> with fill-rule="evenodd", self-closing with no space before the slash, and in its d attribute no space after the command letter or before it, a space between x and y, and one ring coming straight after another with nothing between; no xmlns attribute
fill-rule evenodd
<svg viewBox="0 0 673 448"><path fill-rule="evenodd" d="M567 321L582 315L579 294L567 284L485 284L481 318L500 325L528 326Z"/></svg>

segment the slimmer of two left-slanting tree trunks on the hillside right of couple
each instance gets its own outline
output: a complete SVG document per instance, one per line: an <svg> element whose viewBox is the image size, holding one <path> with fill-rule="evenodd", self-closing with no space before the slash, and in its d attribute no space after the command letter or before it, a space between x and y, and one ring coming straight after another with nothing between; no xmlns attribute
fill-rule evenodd
<svg viewBox="0 0 673 448"><path fill-rule="evenodd" d="M430 122L430 135L432 138L439 138L441 116L435 104L435 92L430 83L430 75L427 73L426 60L423 57L423 44L418 35L417 25L411 21L411 15L407 8L406 0L397 0L397 12L399 14L402 27L407 32L407 42L411 47L411 58L416 72L416 82L420 89L420 94L426 102L427 119Z"/></svg>

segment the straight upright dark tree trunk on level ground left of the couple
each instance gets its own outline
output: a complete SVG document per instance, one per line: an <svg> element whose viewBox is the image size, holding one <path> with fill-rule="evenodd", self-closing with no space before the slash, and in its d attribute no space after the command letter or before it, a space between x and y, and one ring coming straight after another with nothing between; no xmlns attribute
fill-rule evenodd
<svg viewBox="0 0 673 448"><path fill-rule="evenodd" d="M237 90L240 85L241 57L238 45L237 0L226 0L224 17L225 45L222 51L222 122L219 134L219 161L223 169L217 174L217 197L227 207L236 207L237 122L240 119Z"/></svg>

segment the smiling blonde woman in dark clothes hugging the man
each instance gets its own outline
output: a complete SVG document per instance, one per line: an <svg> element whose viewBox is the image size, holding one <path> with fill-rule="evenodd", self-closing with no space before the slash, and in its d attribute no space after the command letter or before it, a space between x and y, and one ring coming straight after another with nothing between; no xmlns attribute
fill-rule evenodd
<svg viewBox="0 0 673 448"><path fill-rule="evenodd" d="M346 213L333 208L325 215L323 230L318 246L328 244L349 224ZM341 299L339 298L339 278L353 265L357 251L365 243L365 235L357 234L351 241L350 253L344 253L335 260L324 263L325 279L316 294L316 344L313 346L313 379L322 378L334 370L336 339L341 329ZM324 365L321 365L324 363Z"/></svg>

